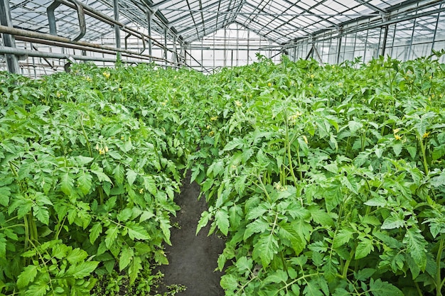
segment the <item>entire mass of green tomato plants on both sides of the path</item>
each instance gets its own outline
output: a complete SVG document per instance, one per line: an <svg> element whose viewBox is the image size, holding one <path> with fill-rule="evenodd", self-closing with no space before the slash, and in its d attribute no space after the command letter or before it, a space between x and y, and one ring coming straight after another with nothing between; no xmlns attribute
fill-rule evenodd
<svg viewBox="0 0 445 296"><path fill-rule="evenodd" d="M0 293L154 293L189 169L226 295L444 295L436 55L0 73Z"/></svg>

